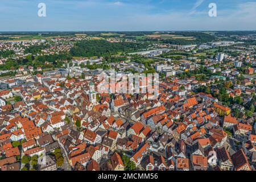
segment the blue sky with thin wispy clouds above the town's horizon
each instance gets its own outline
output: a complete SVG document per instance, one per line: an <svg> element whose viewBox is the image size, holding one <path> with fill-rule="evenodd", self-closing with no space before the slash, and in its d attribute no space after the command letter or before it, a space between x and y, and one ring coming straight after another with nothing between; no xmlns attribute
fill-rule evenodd
<svg viewBox="0 0 256 182"><path fill-rule="evenodd" d="M0 17L0 31L256 30L256 1L0 0Z"/></svg>

